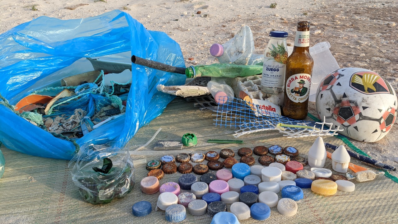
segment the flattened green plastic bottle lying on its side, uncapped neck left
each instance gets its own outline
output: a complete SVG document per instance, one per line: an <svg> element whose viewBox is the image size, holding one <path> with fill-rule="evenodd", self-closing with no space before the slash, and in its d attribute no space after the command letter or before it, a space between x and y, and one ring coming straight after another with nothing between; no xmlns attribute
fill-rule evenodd
<svg viewBox="0 0 398 224"><path fill-rule="evenodd" d="M252 75L261 75L263 66L261 65L235 65L235 64L212 64L190 66L185 69L187 78L196 77L246 77Z"/></svg>

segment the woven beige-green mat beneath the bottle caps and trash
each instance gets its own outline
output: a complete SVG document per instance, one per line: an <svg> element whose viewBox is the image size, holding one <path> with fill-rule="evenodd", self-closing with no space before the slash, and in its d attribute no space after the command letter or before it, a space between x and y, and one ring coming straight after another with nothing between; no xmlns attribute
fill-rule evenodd
<svg viewBox="0 0 398 224"><path fill-rule="evenodd" d="M220 151L230 148L237 151L240 147L253 148L257 145L294 146L300 155L306 157L308 149L315 140L312 138L288 139L276 131L258 132L242 136L244 144L206 143L208 139L234 139L234 130L216 128L213 125L212 112L200 111L182 98L172 101L164 113L137 132L129 142L136 149L148 141L158 128L162 131L155 141L142 151L153 148L156 140L181 140L185 133L195 133L198 145L186 148L192 152ZM343 142L334 137L325 137L325 142L341 145ZM77 187L72 182L68 161L46 159L25 155L1 148L6 158L6 170L0 179L0 223L166 223L164 211L154 211L159 193L146 195L140 191L139 182L148 171L144 165L135 167L135 187L125 198L115 199L110 204L92 205L82 200ZM165 153L166 154L166 153ZM258 156L254 155L256 161ZM159 159L158 156L133 156L133 159ZM236 159L240 159L236 155ZM220 159L222 161L223 159ZM367 167L356 159L351 163ZM256 162L256 165L259 165ZM331 160L326 159L325 168L332 169ZM372 167L367 167L373 169ZM309 169L305 167L304 169ZM215 173L213 171L212 173ZM334 172L335 173L335 172ZM165 175L160 184L168 181L178 182L179 173ZM199 176L198 176L199 178ZM321 196L303 189L304 199L297 202L298 212L293 217L281 215L276 207L271 208L271 217L266 223L398 223L397 197L398 185L379 175L375 180L355 183L354 192L338 191L333 196ZM281 193L278 193L281 197ZM153 211L145 217L131 214L131 206L140 200L152 203ZM192 216L181 223L210 223L208 214ZM241 220L242 224L265 223L252 218Z"/></svg>

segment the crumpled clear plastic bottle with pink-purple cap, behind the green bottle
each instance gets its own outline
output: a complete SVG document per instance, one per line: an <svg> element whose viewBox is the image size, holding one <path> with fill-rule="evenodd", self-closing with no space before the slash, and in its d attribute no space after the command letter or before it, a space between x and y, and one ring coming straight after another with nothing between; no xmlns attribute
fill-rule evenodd
<svg viewBox="0 0 398 224"><path fill-rule="evenodd" d="M210 47L210 54L220 63L236 65L258 65L263 62L263 55L253 54L254 39L249 26L243 26L238 33L223 45L215 43Z"/></svg>

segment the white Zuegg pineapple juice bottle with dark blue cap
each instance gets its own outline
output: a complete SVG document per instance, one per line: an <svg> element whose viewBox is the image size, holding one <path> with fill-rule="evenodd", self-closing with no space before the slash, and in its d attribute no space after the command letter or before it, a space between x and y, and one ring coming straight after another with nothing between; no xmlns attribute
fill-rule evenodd
<svg viewBox="0 0 398 224"><path fill-rule="evenodd" d="M285 31L269 32L269 43L264 51L263 75L261 77L261 91L267 94L283 92L288 35Z"/></svg>

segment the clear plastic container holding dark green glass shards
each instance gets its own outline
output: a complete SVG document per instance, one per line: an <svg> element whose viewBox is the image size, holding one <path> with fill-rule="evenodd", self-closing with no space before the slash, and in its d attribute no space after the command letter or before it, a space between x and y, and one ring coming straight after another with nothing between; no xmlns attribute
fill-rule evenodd
<svg viewBox="0 0 398 224"><path fill-rule="evenodd" d="M72 180L86 202L107 204L113 198L123 198L134 187L134 165L127 149L87 143L69 162ZM104 161L111 161L112 164ZM105 167L105 169L103 169ZM106 169L110 168L110 169Z"/></svg>

